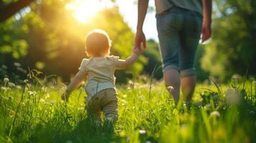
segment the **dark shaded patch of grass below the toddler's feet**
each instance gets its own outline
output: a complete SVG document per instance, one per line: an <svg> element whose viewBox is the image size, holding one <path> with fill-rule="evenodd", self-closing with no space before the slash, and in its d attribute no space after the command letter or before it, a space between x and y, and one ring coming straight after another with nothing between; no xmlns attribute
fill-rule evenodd
<svg viewBox="0 0 256 143"><path fill-rule="evenodd" d="M116 134L113 128L108 128L105 125L95 127L91 119L80 121L75 129L70 126L54 129L52 125L38 124L32 142L122 142L124 137Z"/></svg>

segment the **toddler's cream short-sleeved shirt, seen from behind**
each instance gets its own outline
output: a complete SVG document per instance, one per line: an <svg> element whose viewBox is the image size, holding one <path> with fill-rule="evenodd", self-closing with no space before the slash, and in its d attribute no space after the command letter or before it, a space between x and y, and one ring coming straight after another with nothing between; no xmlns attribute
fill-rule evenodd
<svg viewBox="0 0 256 143"><path fill-rule="evenodd" d="M115 88L115 67L118 56L91 57L82 59L79 70L87 74L85 92L87 99L91 99L103 89Z"/></svg>

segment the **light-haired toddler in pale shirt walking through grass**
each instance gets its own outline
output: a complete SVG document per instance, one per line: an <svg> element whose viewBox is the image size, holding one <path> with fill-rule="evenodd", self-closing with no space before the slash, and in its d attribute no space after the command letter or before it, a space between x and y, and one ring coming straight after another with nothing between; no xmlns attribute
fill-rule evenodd
<svg viewBox="0 0 256 143"><path fill-rule="evenodd" d="M85 51L89 59L82 59L79 71L67 86L62 99L67 100L70 93L87 79L87 115L100 125L101 112L105 121L115 123L118 118L118 98L115 89L115 69L125 69L138 59L141 51L133 48L127 59L109 56L111 41L108 34L100 29L90 31L86 38Z"/></svg>

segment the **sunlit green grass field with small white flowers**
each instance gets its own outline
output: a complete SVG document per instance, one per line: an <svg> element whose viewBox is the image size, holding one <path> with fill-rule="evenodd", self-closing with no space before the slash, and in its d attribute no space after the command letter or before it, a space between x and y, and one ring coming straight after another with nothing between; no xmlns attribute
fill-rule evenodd
<svg viewBox="0 0 256 143"><path fill-rule="evenodd" d="M118 122L108 132L87 119L82 87L66 103L58 82L4 79L0 142L256 142L254 80L199 84L191 107L174 105L162 82L118 85Z"/></svg>

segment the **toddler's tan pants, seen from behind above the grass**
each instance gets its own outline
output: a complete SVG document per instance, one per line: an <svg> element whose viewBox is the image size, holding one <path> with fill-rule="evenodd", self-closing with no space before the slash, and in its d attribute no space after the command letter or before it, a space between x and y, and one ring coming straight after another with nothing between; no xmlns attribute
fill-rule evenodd
<svg viewBox="0 0 256 143"><path fill-rule="evenodd" d="M101 112L105 115L105 120L115 122L118 119L118 98L114 88L103 89L95 94L87 102L87 114L100 121Z"/></svg>

